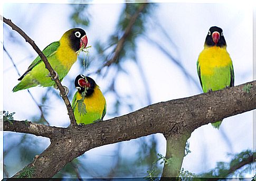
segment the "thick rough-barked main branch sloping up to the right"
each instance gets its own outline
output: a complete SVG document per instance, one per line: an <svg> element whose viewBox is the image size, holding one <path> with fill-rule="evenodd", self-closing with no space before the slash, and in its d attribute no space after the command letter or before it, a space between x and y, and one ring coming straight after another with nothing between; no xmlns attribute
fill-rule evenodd
<svg viewBox="0 0 256 181"><path fill-rule="evenodd" d="M249 93L243 90L247 84L252 84ZM177 135L184 136L184 133L190 135L202 125L254 109L255 94L256 81L253 81L216 92L149 105L104 122L76 126L75 129L61 128L58 134L49 136L51 145L34 163L33 177L52 177L75 157L102 145L155 133L163 133L170 139ZM4 130L7 130L8 124L4 122ZM182 145L184 152L185 145Z"/></svg>

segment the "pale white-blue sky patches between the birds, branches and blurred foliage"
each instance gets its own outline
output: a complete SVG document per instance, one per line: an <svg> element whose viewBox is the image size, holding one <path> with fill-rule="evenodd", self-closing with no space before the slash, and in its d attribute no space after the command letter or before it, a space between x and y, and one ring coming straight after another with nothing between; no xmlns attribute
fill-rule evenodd
<svg viewBox="0 0 256 181"><path fill-rule="evenodd" d="M91 25L86 29L89 45L93 45L98 39L106 42L108 36L116 27L116 22L123 6L123 4L94 4L90 6ZM16 25L20 26L41 49L53 41L58 41L67 29L72 28L69 20L70 11L70 5L62 4L20 4L19 6L17 4L6 4L4 6L4 16L12 19ZM163 46L167 47L170 52L174 52L173 55L181 61L196 81L198 81L196 72L197 57L203 49L208 29L215 25L223 29L227 51L233 61L235 85L252 81L253 19L252 6L250 4L160 3L154 13L154 19L158 19L158 23L165 28L168 35L173 39L178 52L175 52L173 46L170 46L163 36L159 35L155 22L148 22L147 35L152 39L163 38L163 41L161 41ZM31 26L32 22L33 25ZM10 27L5 26L4 31L8 35ZM23 73L37 55L32 47L24 42L21 36L16 32L13 32L13 35L21 43L14 44L4 36L4 45L13 57L20 73ZM180 69L170 62L154 44L149 44L141 37L137 39L137 46L139 47L137 52L138 60L147 76L153 103L202 93L201 89L198 90L197 86L187 81ZM93 47L90 48L90 54L93 54L94 51ZM11 92L12 88L18 83L18 75L5 53L3 57L4 75L0 76L0 78L4 77L4 110L16 112L14 118L17 120L24 120L39 114L38 108L26 90L21 90L17 93ZM124 74L118 77L118 92L124 95L131 93L133 91L130 86L131 81L132 85L139 90L143 89L141 79L136 79L138 74L136 65L132 61L126 61L124 64L127 67L129 76ZM78 63L73 65L68 74L69 77L78 75L76 71L78 66ZM1 69L0 71L2 72ZM90 72L93 72L93 70L88 70L87 73ZM93 76L93 78L104 92L105 87L107 87L106 79L96 76ZM0 82L2 83L1 79ZM68 79L64 78L62 83L64 85L69 84ZM155 83L157 83L157 86ZM199 84L200 82L198 81ZM35 87L30 90L37 102L40 102L45 88ZM143 94L143 91L141 93L137 91L134 95L134 101L137 102L134 110L147 105L146 102L137 101L139 97L145 97L141 94ZM106 95L108 109L111 109L112 106L111 98L111 95ZM129 110L123 108L120 115L128 112ZM63 100L60 97L53 96L51 112L47 116L51 126L68 126L69 119L66 113L67 109L63 104ZM109 118L111 117L107 114L105 119ZM228 162L231 157L228 157L227 153L235 154L245 149L252 149L252 133L252 112L226 118L220 130L214 129L210 124L204 125L196 129L191 138L189 138L189 149L192 153L189 153L184 158L182 167L189 170L189 172L200 174L214 168L216 162ZM230 140L231 145L227 144L223 136ZM165 155L165 138L162 134L157 134L156 137L159 153ZM47 139L40 139L40 142L42 142L42 147L46 147L49 144ZM131 140L124 144L126 144L126 149L122 150L122 155L128 157L133 154L132 152L136 154L136 140ZM116 146L117 144L112 144L94 148L86 154L93 162L97 162L97 160L104 158L105 152L112 152ZM204 156L202 157L202 155ZM252 176L252 174L249 176Z"/></svg>

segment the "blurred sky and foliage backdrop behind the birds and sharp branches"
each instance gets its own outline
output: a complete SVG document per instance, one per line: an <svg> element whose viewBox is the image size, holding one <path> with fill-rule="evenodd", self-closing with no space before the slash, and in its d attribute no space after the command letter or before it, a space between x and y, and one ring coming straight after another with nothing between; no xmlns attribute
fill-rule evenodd
<svg viewBox="0 0 256 181"><path fill-rule="evenodd" d="M89 53L79 55L62 84L69 88L72 100L74 78L78 74L92 77L107 100L105 120L150 104L201 94L196 61L211 26L223 29L235 85L253 79L253 16L252 7L245 3L67 3L6 3L4 17L12 19L41 50L69 28L82 27L87 32ZM132 18L136 21L128 28ZM3 29L4 110L15 112L15 120L67 127L69 117L59 90L33 87L30 92L12 93L19 74L37 55L8 25ZM118 58L112 61L122 38ZM234 159L252 154L252 119L252 112L247 112L224 119L219 130L211 124L196 129L188 139L191 153L184 157L182 168L196 176L220 176L220 170L229 169ZM5 132L4 177L13 176L49 144L48 138ZM55 177L145 177L147 172L160 176L163 164L157 162L157 154L165 155L165 149L162 134L101 146L74 159ZM245 164L226 176L252 177L253 166Z"/></svg>

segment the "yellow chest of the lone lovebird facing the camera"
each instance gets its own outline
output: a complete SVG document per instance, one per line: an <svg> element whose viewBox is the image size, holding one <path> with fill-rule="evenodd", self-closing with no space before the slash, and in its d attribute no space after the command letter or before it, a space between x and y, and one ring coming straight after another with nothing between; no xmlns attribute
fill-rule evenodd
<svg viewBox="0 0 256 181"><path fill-rule="evenodd" d="M198 57L201 73L210 74L213 68L226 67L232 65L232 61L226 48L205 47Z"/></svg>

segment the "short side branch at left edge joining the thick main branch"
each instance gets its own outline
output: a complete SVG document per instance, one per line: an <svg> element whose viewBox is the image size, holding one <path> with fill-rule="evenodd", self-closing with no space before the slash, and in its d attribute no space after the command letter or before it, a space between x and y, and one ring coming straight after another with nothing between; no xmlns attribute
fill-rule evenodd
<svg viewBox="0 0 256 181"><path fill-rule="evenodd" d="M65 128L46 126L42 124L32 123L27 120L6 120L4 122L4 130L17 132L17 133L29 133L36 136L43 136L52 138L63 132Z"/></svg>

